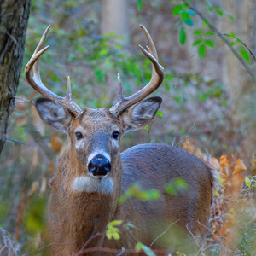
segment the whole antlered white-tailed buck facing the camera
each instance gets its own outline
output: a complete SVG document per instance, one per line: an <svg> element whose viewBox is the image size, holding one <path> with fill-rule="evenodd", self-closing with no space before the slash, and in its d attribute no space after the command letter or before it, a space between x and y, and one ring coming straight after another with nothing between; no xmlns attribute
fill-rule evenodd
<svg viewBox="0 0 256 256"><path fill-rule="evenodd" d="M43 49L49 27L26 65L28 83L46 97L36 101L40 117L47 125L65 131L69 138L58 171L49 182L45 241L52 245L48 255L78 252L86 241L99 232L104 233L108 222L116 219L131 222L134 228L121 227L117 241L97 236L90 240L88 247L134 248L137 241L150 246L159 236L152 247L169 248L172 241L180 239L177 227L170 226L174 222L180 230L193 234L198 240L205 234L213 182L207 164L192 154L161 143L137 145L122 154L119 150L125 132L151 122L162 102L160 97L144 100L160 86L164 69L158 62L148 31L141 27L149 47L144 49L139 45L139 48L153 64L152 77L142 90L125 98L118 75L118 100L109 110L79 108L71 99L69 78L65 97L55 95L44 86L38 61L49 48ZM166 183L177 177L189 188L183 193L168 195ZM133 183L139 183L143 189L159 189L160 200L130 198L119 205L119 196Z"/></svg>

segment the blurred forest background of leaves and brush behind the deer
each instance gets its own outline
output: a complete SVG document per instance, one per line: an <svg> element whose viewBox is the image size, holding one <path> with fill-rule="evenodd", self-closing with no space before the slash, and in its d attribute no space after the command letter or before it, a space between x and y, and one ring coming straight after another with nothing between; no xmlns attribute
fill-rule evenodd
<svg viewBox="0 0 256 256"><path fill-rule="evenodd" d="M166 79L154 92L163 103L150 127L125 135L122 150L160 142L205 154L223 176L201 253L253 255L255 20L253 0L32 1L15 111L0 155L0 254L38 247L47 183L67 143L39 119L33 105L38 94L23 74L44 29L52 25L40 62L44 84L64 95L69 75L81 108L109 108L118 72L125 96L150 79L150 61L137 47L146 44L143 24L165 67Z"/></svg>

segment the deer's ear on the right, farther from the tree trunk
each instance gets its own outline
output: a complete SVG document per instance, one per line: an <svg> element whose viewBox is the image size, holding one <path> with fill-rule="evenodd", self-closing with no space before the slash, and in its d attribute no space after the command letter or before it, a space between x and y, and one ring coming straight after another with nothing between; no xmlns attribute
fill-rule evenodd
<svg viewBox="0 0 256 256"><path fill-rule="evenodd" d="M148 125L154 119L161 102L162 99L160 97L151 97L125 109L119 115L119 118L123 119L125 131L142 129Z"/></svg>

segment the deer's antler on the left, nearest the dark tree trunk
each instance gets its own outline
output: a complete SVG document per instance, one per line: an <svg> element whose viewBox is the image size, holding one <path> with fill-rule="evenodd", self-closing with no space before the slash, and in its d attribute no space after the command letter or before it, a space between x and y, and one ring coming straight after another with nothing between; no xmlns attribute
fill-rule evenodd
<svg viewBox="0 0 256 256"><path fill-rule="evenodd" d="M49 48L49 45L44 47L44 40L46 38L46 35L49 31L50 25L46 28L44 31L44 34L35 49L30 61L27 62L26 67L25 67L25 77L28 82L32 86L33 89L37 90L41 95L49 98L50 100L53 100L54 102L57 102L61 104L61 106L67 108L67 110L70 113L73 113L75 117L79 116L80 113L82 113L82 109L79 108L79 106L73 102L71 98L71 84L70 84L70 79L67 77L67 93L65 97L57 96L55 95L54 92L51 90L48 90L44 84L41 81L40 78L40 72L39 72L39 58L41 55L44 54L44 52ZM31 69L33 71L33 76L31 73Z"/></svg>

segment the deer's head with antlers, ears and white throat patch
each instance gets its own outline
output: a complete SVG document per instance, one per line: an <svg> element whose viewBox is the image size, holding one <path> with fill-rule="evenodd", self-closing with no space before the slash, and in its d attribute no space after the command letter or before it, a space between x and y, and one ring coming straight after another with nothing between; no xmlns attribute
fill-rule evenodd
<svg viewBox="0 0 256 256"><path fill-rule="evenodd" d="M36 108L41 119L53 128L65 131L70 139L73 154L73 166L77 177L73 188L78 191L87 188L90 191L101 188L106 193L113 190L112 169L116 169L119 160L119 141L126 131L143 128L160 108L160 97L143 99L156 90L164 79L164 69L158 62L154 43L144 26L141 25L148 40L147 49L139 48L152 62L152 77L142 90L132 96L124 97L118 73L118 99L109 110L84 108L73 102L70 79L67 77L67 94L57 96L48 90L41 81L39 58L49 48L43 48L49 26L45 30L38 47L25 68L28 83L46 98L36 101ZM31 73L31 69L33 75ZM121 167L119 166L121 170ZM110 177L110 178L107 178ZM102 181L104 180L104 182ZM97 185L100 183L101 186ZM102 183L104 185L102 186Z"/></svg>

